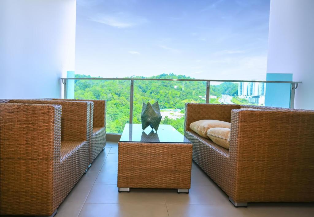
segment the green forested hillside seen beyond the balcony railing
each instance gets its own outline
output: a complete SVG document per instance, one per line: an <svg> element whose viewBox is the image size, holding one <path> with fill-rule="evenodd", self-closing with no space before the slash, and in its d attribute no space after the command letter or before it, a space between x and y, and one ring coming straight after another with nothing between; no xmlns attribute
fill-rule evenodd
<svg viewBox="0 0 314 217"><path fill-rule="evenodd" d="M75 75L90 78L89 75ZM133 76L132 78L144 78ZM149 78L193 79L185 75L161 74ZM76 99L107 100L106 131L122 133L124 125L129 123L130 81L129 80L75 80L74 97ZM210 86L210 95L222 94L236 96L238 84L224 82ZM184 109L185 103L205 103L199 96L206 95L205 81L134 81L133 123L141 123L143 102L158 101L160 109ZM210 103L219 103L210 99ZM184 112L184 110L182 111ZM183 133L184 117L176 120L165 117L161 124L170 124Z"/></svg>

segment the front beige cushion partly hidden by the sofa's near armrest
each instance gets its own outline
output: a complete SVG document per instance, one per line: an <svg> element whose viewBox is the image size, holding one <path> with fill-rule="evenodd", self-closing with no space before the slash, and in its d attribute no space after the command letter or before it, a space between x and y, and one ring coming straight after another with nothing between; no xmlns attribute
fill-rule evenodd
<svg viewBox="0 0 314 217"><path fill-rule="evenodd" d="M207 136L217 145L229 149L230 128L214 127L207 131Z"/></svg>

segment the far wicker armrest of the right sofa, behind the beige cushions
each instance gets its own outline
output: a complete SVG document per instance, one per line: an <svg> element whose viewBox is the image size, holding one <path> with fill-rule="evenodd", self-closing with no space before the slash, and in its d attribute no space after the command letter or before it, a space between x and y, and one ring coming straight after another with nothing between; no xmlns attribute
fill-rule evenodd
<svg viewBox="0 0 314 217"><path fill-rule="evenodd" d="M186 103L184 131L190 131L190 124L197 120L221 120L230 122L231 110L240 105Z"/></svg>

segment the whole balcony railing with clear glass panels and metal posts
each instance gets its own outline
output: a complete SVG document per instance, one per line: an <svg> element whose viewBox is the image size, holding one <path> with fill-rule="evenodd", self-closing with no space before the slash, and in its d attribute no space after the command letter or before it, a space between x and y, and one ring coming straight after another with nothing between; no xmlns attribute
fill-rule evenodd
<svg viewBox="0 0 314 217"><path fill-rule="evenodd" d="M294 108L301 81L155 78L61 78L64 98L107 100L107 132L140 123L143 102L159 101L162 123L183 133L185 103L253 104Z"/></svg>

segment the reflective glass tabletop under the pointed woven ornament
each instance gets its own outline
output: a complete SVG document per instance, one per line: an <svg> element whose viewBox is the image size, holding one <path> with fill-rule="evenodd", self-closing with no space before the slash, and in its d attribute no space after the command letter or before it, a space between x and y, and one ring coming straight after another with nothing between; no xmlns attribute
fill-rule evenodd
<svg viewBox="0 0 314 217"><path fill-rule="evenodd" d="M126 124L120 142L192 143L168 124L159 125L157 132L150 126L143 130L141 124Z"/></svg>

